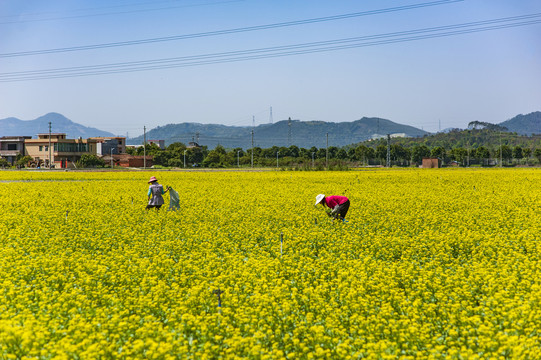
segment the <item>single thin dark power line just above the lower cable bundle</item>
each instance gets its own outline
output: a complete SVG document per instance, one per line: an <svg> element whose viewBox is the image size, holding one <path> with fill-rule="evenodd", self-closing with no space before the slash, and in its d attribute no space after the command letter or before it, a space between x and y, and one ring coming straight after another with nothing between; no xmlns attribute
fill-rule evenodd
<svg viewBox="0 0 541 360"><path fill-rule="evenodd" d="M288 21L288 22L281 22L281 23L274 23L274 24L249 26L249 27L242 27L242 28L235 28L235 29L194 33L194 34L185 34L185 35L176 35L176 36L167 36L167 37L159 37L159 38L140 39L140 40L130 40L130 41L120 41L120 42L94 44L94 45L72 46L72 47L45 49L45 50L21 51L21 52L0 54L0 58L54 54L54 53L71 52L71 51L94 50L94 49L141 45L141 44L149 44L149 43L157 43L157 42L165 42L165 41L177 41L177 40L193 39L193 38L208 37L208 36L227 35L227 34L249 32L249 31L268 30L268 29L274 29L274 28L280 28L280 27L299 26L299 25L313 24L313 23L326 22L326 21L343 20L343 19L349 19L349 18L360 17L360 16L383 14L383 13L389 13L389 12L395 12L395 11L418 9L418 8L423 8L423 7L428 7L428 6L444 5L444 4L450 4L450 3L460 2L460 1L464 1L464 0L440 0L440 1L433 1L433 2L428 2L428 3L419 3L419 4L398 6L398 7L392 7L392 8L379 9L379 10L355 12L355 13L326 16L326 17L313 18L313 19Z"/></svg>

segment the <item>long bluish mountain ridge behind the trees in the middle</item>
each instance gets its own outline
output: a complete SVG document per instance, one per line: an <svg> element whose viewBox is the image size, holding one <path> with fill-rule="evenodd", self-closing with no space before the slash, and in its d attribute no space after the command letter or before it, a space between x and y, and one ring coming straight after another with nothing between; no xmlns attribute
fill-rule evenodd
<svg viewBox="0 0 541 360"><path fill-rule="evenodd" d="M310 148L345 146L386 134L403 134L419 137L428 132L408 125L401 125L380 118L365 118L352 122L332 123L324 121L282 120L274 124L263 124L253 128L254 145L261 148L296 145ZM181 123L159 126L147 132L148 140L165 140L166 145L174 142L187 144L199 139L200 145L210 149L220 144L226 148L250 148L252 145L252 127L226 126L198 123ZM128 139L128 144L142 144L143 136Z"/></svg>

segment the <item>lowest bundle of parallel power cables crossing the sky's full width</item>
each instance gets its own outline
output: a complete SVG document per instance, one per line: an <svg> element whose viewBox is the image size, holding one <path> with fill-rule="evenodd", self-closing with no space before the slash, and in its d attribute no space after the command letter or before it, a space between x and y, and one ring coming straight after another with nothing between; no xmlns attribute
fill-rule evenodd
<svg viewBox="0 0 541 360"><path fill-rule="evenodd" d="M481 31L499 30L517 26L534 25L541 23L541 19L539 19L540 17L541 13L536 13L509 18L440 26L435 28L425 28L296 45L239 50L223 53L164 58L146 61L133 61L113 64L0 73L0 82L117 74L126 72L170 69L187 66L200 66L236 61L266 59L274 57L310 54L324 51L336 51L358 47L368 47L402 43L406 41L417 41L461 34L470 34Z"/></svg>

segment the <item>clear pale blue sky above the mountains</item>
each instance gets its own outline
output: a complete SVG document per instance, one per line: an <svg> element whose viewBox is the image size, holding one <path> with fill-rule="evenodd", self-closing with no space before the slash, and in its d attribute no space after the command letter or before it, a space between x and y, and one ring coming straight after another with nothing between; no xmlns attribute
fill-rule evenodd
<svg viewBox="0 0 541 360"><path fill-rule="evenodd" d="M349 17L304 21L345 14ZM498 28L490 31L477 31L488 24L469 25L461 29L474 32L449 36L431 30L423 34L438 36L415 41L405 33L442 26L455 26L447 31L456 31L459 24L524 15L532 16L493 23ZM256 125L268 123L271 107L274 122L288 117L342 122L367 116L432 132L465 128L474 120L499 123L541 111L540 20L538 0L3 0L0 118L31 120L58 112L129 136L140 135L143 126L170 123L248 126L254 117ZM303 24L103 46L299 21ZM526 21L530 24L516 26ZM336 46L340 39L390 33L401 37L387 36L394 40L387 44L367 44L365 39L348 49L298 55L268 57L259 50L264 55L259 59L126 68L132 62L186 56L200 63L206 54L321 41ZM98 48L54 50L89 45ZM21 54L35 51L40 53ZM96 65L115 72L65 77ZM73 67L78 69L61 72L59 78L44 72ZM45 78L23 80L34 75Z"/></svg>

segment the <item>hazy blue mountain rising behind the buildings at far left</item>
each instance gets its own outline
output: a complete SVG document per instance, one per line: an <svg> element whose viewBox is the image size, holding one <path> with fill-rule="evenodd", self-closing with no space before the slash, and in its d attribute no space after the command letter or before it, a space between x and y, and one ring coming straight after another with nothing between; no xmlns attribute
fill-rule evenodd
<svg viewBox="0 0 541 360"><path fill-rule="evenodd" d="M86 127L69 120L57 113L48 113L35 120L19 120L14 117L0 120L1 136L32 136L49 132L49 122L53 133L65 133L68 139L78 137L114 136L112 133L96 128Z"/></svg>

